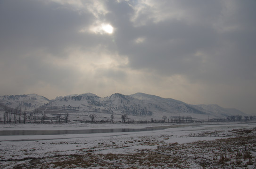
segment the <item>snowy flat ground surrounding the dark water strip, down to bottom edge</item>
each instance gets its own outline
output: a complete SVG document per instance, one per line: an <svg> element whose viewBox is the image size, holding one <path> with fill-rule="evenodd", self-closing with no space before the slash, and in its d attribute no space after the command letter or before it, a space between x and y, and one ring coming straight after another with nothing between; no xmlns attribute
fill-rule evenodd
<svg viewBox="0 0 256 169"><path fill-rule="evenodd" d="M0 131L137 129L158 125L25 124L0 125ZM255 169L256 123L170 125L165 130L140 132L0 136L0 152L0 169Z"/></svg>

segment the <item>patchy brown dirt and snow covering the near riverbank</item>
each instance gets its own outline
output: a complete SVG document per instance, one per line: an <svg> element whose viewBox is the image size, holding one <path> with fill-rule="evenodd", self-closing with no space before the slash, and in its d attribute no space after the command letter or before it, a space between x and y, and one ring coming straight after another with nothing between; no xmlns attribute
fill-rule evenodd
<svg viewBox="0 0 256 169"><path fill-rule="evenodd" d="M205 131L188 137L222 137L171 143L173 135L99 139L98 142L49 142L71 146L40 154L36 145L20 149L22 157L1 155L1 169L253 169L256 166L256 128ZM72 148L73 146L73 148ZM80 147L75 149L74 147ZM7 150L6 150L7 151ZM4 153L4 152L3 152ZM25 155L27 154L27 155ZM36 155L38 154L38 155ZM13 154L15 155L15 153Z"/></svg>

